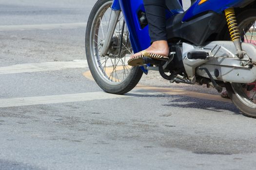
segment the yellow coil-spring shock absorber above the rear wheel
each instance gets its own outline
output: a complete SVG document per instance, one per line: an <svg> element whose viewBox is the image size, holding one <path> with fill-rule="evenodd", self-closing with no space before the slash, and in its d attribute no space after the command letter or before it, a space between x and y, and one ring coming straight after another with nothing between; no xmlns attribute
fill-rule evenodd
<svg viewBox="0 0 256 170"><path fill-rule="evenodd" d="M241 41L240 41L240 33L237 27L236 22L236 14L234 8L228 8L225 10L225 16L228 22L229 34L231 36L231 40L234 42L236 46L237 56L238 58L243 58L244 52L242 51Z"/></svg>

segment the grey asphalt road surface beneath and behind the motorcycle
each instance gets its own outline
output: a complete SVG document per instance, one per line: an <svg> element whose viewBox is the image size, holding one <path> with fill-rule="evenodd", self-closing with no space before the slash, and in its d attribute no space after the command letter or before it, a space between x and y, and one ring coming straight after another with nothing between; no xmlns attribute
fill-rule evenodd
<svg viewBox="0 0 256 170"><path fill-rule="evenodd" d="M256 119L214 89L150 72L102 92L84 52L94 3L0 1L0 170L254 169Z"/></svg>

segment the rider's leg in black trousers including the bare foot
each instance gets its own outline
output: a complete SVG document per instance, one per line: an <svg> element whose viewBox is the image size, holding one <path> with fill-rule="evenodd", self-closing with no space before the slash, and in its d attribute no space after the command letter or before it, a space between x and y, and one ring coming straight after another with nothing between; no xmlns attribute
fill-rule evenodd
<svg viewBox="0 0 256 170"><path fill-rule="evenodd" d="M166 34L166 18L165 18L165 0L143 0L146 10L146 16L149 24L149 35L151 38L151 46L145 51L168 56L169 47ZM132 57L138 56L138 52ZM131 57L131 58L132 58Z"/></svg>

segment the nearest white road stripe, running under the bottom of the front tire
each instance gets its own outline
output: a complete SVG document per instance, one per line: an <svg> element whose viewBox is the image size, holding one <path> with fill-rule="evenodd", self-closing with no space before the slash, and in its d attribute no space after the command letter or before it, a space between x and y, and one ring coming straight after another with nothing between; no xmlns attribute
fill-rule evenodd
<svg viewBox="0 0 256 170"><path fill-rule="evenodd" d="M93 100L117 99L117 98L125 98L125 97L129 97L129 96L114 95L114 94L109 94L109 93L100 91L100 92L89 92L89 93L78 93L78 94L11 98L11 99L0 99L0 108L26 106L26 105L38 105L38 104L64 103L64 102L84 102L84 101L93 101Z"/></svg>

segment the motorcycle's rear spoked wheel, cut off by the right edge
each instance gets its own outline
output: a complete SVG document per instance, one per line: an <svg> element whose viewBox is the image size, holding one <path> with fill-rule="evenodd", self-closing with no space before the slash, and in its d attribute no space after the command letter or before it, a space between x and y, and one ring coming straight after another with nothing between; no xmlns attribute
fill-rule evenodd
<svg viewBox="0 0 256 170"><path fill-rule="evenodd" d="M256 45L256 10L250 9L237 16L241 41ZM256 83L226 84L231 100L243 115L256 118Z"/></svg>

